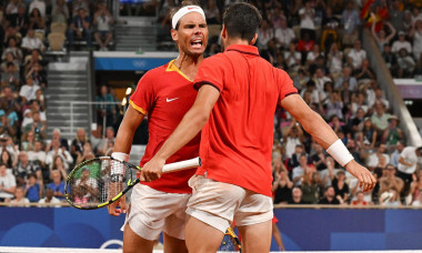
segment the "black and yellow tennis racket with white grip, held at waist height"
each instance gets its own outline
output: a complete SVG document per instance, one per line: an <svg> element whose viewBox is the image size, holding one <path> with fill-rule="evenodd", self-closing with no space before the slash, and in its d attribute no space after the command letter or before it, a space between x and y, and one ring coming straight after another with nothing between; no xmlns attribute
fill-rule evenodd
<svg viewBox="0 0 422 253"><path fill-rule="evenodd" d="M201 166L194 158L165 164L162 173ZM128 162L101 156L78 164L68 175L64 185L66 200L77 209L93 210L107 206L132 189L141 180L135 172L142 168Z"/></svg>

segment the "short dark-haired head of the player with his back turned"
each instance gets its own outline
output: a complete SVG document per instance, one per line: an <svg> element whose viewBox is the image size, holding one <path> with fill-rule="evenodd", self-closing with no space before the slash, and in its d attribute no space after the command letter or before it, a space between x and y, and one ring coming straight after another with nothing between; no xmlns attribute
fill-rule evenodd
<svg viewBox="0 0 422 253"><path fill-rule="evenodd" d="M259 10L245 2L229 6L223 14L223 24L231 38L251 41L262 22Z"/></svg>

